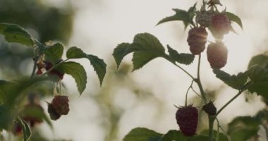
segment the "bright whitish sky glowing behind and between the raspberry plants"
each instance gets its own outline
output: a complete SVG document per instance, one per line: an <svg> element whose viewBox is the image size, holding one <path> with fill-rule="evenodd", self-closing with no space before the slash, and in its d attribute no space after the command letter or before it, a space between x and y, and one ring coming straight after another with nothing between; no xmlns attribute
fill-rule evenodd
<svg viewBox="0 0 268 141"><path fill-rule="evenodd" d="M61 6L63 1L50 0L50 3ZM164 46L169 44L178 51L190 52L186 42L188 33L184 32L182 22L155 25L162 18L173 15L172 8L187 10L195 3L193 0L72 0L71 3L75 7L76 15L73 36L68 47L83 47L85 52L103 58L108 63L108 68L114 65L114 61L111 61L111 54L116 45L121 42L132 42L135 34L140 32L150 32L158 37ZM231 33L224 39L226 47L229 49L229 58L223 70L236 74L245 71L251 56L260 54L267 49L264 44L267 43L268 11L266 6L268 1L222 0L221 3L227 7L227 11L236 13L243 21L243 30L233 24L239 35ZM130 63L130 56L123 61ZM97 82L97 75L86 62L82 61L89 75L87 92L98 92L101 88ZM192 66L183 67L195 75L196 66L197 58ZM173 104L184 104L184 95L190 85L190 78L164 59L155 59L131 75L140 84L140 87L150 88L156 97L164 99L166 107L164 107L164 114L159 116L153 102L140 102L138 106L123 114L119 122L119 137L122 139L129 130L137 126L151 128L160 133L178 129L174 118L176 109ZM201 79L205 89L225 86L214 77L206 54L202 56ZM77 93L71 77L66 77L64 81L69 87L69 93ZM229 88L221 90L220 96L216 100L216 106L221 107L234 94L236 94L236 90ZM129 90L122 87L116 93L116 97L118 95L122 99L115 100L115 104L131 107L133 96ZM190 95L190 97L192 96L193 94ZM63 116L59 121L53 122L54 135L46 125L42 125L44 133L51 137L75 141L104 140L103 129L98 120L101 111L97 104L85 95L79 97L78 94L72 94L71 98L71 111L68 116ZM219 120L229 122L234 116L255 114L256 109L263 106L258 99L256 98L255 102L250 104L245 104L245 97L240 96L219 115ZM233 111L233 109L242 110Z"/></svg>

